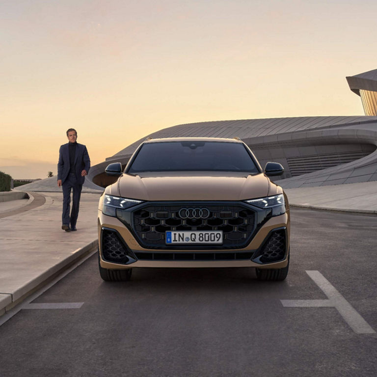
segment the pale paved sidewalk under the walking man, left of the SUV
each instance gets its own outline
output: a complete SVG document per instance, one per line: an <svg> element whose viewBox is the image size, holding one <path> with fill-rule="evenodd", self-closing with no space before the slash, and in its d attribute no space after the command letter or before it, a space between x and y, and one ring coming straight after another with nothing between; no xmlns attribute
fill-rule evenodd
<svg viewBox="0 0 377 377"><path fill-rule="evenodd" d="M23 199L24 207L18 200L12 208L11 202L0 203L0 315L97 247L99 194L81 194L77 232L61 230L61 193L42 193L42 201L40 193L29 194L35 199Z"/></svg>

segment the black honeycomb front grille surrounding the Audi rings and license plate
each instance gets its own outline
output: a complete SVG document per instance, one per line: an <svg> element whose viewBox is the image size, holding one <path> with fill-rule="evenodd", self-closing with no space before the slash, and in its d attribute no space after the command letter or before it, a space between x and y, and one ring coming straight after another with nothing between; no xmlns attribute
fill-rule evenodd
<svg viewBox="0 0 377 377"><path fill-rule="evenodd" d="M187 218L179 216L182 208L206 208L207 218ZM242 205L206 205L190 203L181 205L147 205L133 213L133 226L140 243L145 247L157 248L241 248L244 247L255 228L255 212ZM209 231L223 232L222 245L175 244L166 245L166 231Z"/></svg>

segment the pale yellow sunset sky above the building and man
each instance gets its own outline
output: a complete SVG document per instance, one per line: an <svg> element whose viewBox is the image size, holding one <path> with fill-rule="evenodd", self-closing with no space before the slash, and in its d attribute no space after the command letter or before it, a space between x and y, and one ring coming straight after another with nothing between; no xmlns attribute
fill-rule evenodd
<svg viewBox="0 0 377 377"><path fill-rule="evenodd" d="M68 128L92 164L162 128L363 115L372 0L2 0L0 170L56 175Z"/></svg>

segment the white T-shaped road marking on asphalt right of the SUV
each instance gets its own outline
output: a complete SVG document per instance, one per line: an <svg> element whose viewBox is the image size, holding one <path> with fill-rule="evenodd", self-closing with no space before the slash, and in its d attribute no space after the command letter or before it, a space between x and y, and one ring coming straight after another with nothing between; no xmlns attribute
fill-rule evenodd
<svg viewBox="0 0 377 377"><path fill-rule="evenodd" d="M306 271L328 297L327 300L280 300L285 307L334 307L356 334L375 334L351 304L331 285L319 271Z"/></svg>

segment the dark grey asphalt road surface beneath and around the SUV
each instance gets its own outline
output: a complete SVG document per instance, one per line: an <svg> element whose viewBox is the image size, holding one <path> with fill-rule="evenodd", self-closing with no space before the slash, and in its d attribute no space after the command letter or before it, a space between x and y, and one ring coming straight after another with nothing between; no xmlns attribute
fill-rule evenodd
<svg viewBox="0 0 377 377"><path fill-rule="evenodd" d="M105 283L93 256L0 327L0 376L375 377L377 334L356 333L306 272L377 331L377 217L291 210L283 282L253 269L135 269ZM360 317L360 318L361 318ZM372 331L373 331L372 330Z"/></svg>

